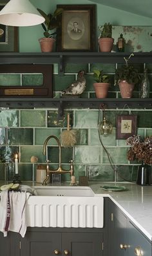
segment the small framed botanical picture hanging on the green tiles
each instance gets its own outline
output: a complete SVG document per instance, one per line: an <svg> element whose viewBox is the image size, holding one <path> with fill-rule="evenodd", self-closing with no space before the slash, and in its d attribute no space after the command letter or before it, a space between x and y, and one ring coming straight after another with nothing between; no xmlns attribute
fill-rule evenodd
<svg viewBox="0 0 152 256"><path fill-rule="evenodd" d="M117 115L116 139L137 134L137 115Z"/></svg>

